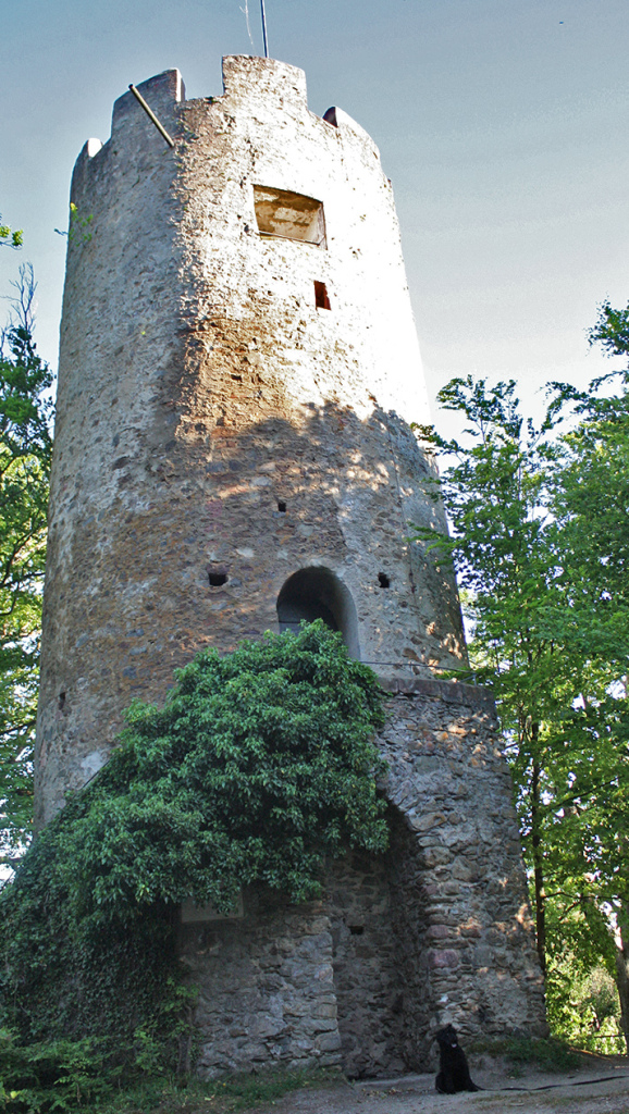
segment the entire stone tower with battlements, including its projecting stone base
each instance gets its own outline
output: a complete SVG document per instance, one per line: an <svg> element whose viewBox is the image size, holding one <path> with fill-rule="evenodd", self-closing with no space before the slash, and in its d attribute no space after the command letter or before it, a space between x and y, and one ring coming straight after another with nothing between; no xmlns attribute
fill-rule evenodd
<svg viewBox="0 0 629 1114"><path fill-rule="evenodd" d="M407 424L428 416L378 152L311 113L293 67L223 76L217 98L186 101L176 70L139 87L174 148L125 94L75 167L37 820L199 649L325 618L393 694L394 850L330 864L317 907L184 910L182 955L206 1073L377 1073L444 1019L543 1026L517 831L491 702L435 680L465 651L452 578L407 541L445 524Z"/></svg>

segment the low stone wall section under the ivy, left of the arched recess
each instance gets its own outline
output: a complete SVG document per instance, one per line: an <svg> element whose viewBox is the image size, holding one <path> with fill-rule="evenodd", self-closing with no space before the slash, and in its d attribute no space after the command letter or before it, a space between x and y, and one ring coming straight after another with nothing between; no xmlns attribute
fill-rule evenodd
<svg viewBox="0 0 629 1114"><path fill-rule="evenodd" d="M322 906L258 887L243 920L183 925L181 957L200 988L200 1075L340 1063L332 938Z"/></svg>

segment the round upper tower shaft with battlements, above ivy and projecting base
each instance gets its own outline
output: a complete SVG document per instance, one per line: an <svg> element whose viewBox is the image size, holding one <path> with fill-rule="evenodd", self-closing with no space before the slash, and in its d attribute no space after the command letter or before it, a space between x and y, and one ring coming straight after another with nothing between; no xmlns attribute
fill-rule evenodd
<svg viewBox="0 0 629 1114"><path fill-rule="evenodd" d="M130 92L74 173L45 593L37 822L134 696L205 646L322 617L383 677L464 654L390 183L301 70L225 58ZM428 481L428 482L427 482Z"/></svg>

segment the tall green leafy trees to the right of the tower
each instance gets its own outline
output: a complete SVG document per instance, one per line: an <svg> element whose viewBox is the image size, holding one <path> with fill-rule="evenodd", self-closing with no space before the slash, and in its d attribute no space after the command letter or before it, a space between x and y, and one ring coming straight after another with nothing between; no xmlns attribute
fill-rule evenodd
<svg viewBox="0 0 629 1114"><path fill-rule="evenodd" d="M629 310L604 305L590 335L625 355ZM466 420L464 438L423 431L446 460L453 534L423 530L419 541L456 566L471 658L496 697L562 1033L565 971L613 973L627 920L628 385L627 372L583 393L552 384L535 428L513 382L454 380L441 401ZM629 1038L629 999L626 1018Z"/></svg>

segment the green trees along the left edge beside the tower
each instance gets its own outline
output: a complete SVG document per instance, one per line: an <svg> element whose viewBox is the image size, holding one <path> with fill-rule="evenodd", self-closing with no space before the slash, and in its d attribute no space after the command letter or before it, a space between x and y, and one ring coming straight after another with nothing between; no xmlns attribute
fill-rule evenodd
<svg viewBox="0 0 629 1114"><path fill-rule="evenodd" d="M52 377L28 329L0 348L0 850L20 846L32 813L41 585L50 473Z"/></svg>

